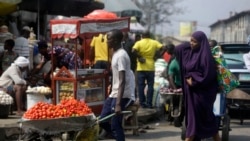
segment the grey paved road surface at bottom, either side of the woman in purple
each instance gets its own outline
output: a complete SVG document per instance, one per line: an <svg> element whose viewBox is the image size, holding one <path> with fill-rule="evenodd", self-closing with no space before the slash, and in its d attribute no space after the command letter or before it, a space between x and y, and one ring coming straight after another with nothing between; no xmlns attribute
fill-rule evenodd
<svg viewBox="0 0 250 141"><path fill-rule="evenodd" d="M163 120L154 121L148 125L152 129L146 129L146 133L140 133L139 136L126 131L126 141L181 141L180 128L169 125ZM250 141L250 120L245 120L243 125L240 125L239 120L231 120L230 126L232 130L229 133L229 141Z"/></svg>

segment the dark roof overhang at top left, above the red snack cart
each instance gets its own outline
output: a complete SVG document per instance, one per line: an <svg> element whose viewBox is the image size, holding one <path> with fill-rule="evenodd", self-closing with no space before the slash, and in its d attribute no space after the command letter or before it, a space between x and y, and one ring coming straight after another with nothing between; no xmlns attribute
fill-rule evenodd
<svg viewBox="0 0 250 141"><path fill-rule="evenodd" d="M103 9L102 2L93 0L23 0L20 10L49 15L84 16L95 9Z"/></svg>

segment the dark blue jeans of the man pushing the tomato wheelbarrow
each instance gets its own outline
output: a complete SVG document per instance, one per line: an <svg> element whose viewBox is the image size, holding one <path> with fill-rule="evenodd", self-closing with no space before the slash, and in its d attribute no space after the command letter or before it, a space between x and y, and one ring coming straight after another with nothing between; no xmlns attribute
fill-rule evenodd
<svg viewBox="0 0 250 141"><path fill-rule="evenodd" d="M133 101L129 98L122 98L121 100L121 110L124 111L126 107L132 105ZM114 113L116 105L116 98L107 98L102 108L100 118L104 118L112 113ZM110 121L103 121L100 123L100 127L103 128L108 133L116 139L116 141L125 141L125 135L122 127L123 114L115 115L111 117Z"/></svg>

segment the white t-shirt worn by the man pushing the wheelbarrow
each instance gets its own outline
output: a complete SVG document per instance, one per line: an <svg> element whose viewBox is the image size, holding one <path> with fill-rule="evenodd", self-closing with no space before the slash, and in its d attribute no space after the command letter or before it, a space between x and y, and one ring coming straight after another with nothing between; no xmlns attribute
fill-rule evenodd
<svg viewBox="0 0 250 141"><path fill-rule="evenodd" d="M109 97L116 98L119 89L119 71L125 71L125 88L123 98L135 100L135 78L130 69L130 59L127 52L120 48L114 52L111 62L113 82L112 92Z"/></svg>

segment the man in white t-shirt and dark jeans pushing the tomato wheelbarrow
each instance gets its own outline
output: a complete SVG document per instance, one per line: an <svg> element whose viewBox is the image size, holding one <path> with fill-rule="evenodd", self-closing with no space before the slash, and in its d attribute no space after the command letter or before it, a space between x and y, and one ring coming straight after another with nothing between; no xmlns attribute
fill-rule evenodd
<svg viewBox="0 0 250 141"><path fill-rule="evenodd" d="M100 115L103 118L116 113L111 118L111 126L109 122L100 123L100 126L117 141L125 141L121 112L132 105L135 100L134 74L130 69L130 58L121 46L122 39L123 33L120 30L112 30L107 34L108 47L113 48L114 51L111 62L113 80L111 93L106 99Z"/></svg>

